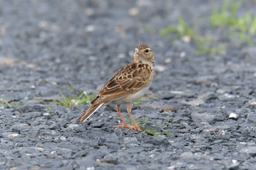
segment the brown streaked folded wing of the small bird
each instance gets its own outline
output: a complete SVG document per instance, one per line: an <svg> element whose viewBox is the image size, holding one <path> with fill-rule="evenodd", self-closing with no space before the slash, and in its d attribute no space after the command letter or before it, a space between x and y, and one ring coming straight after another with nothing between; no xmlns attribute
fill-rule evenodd
<svg viewBox="0 0 256 170"><path fill-rule="evenodd" d="M148 63L129 63L108 80L91 104L108 103L136 93L150 85L153 74L154 69Z"/></svg>

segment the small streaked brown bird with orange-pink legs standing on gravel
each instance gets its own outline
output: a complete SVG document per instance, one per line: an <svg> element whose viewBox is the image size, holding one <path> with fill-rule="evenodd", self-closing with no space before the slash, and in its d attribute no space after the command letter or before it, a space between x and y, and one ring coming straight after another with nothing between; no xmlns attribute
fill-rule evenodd
<svg viewBox="0 0 256 170"><path fill-rule="evenodd" d="M122 124L115 128L129 128L141 131L135 118L132 116L133 102L143 96L154 77L154 53L148 45L137 45L133 55L133 61L118 69L108 82L97 93L96 98L91 101L89 108L78 117L77 122L85 122L94 112L106 104L116 104L116 111L121 117ZM127 112L132 119L133 125L128 125L121 114L120 107L127 104Z"/></svg>

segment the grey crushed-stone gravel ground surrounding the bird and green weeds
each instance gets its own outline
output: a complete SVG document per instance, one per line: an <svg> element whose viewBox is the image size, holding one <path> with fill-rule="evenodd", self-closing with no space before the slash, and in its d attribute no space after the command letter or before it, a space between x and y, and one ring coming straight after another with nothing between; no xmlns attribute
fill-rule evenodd
<svg viewBox="0 0 256 170"><path fill-rule="evenodd" d="M256 169L256 48L208 24L215 5L222 1L1 0L0 169ZM239 12L254 7L244 1ZM202 34L215 31L225 53L198 54L193 41L159 34L180 15ZM155 135L113 128L113 105L77 124L87 106L51 101L75 93L68 81L96 92L139 43L157 65L132 112Z"/></svg>

